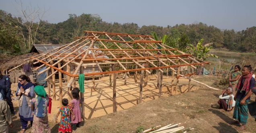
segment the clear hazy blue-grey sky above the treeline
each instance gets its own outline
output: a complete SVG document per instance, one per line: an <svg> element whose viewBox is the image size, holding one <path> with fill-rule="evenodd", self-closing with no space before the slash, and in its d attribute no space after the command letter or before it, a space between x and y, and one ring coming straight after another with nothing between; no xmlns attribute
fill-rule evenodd
<svg viewBox="0 0 256 133"><path fill-rule="evenodd" d="M98 14L103 21L138 26L174 26L203 22L222 29L256 26L256 0L16 0L23 8L47 10L43 20L63 22L68 14ZM15 0L0 0L0 10L20 15Z"/></svg>

